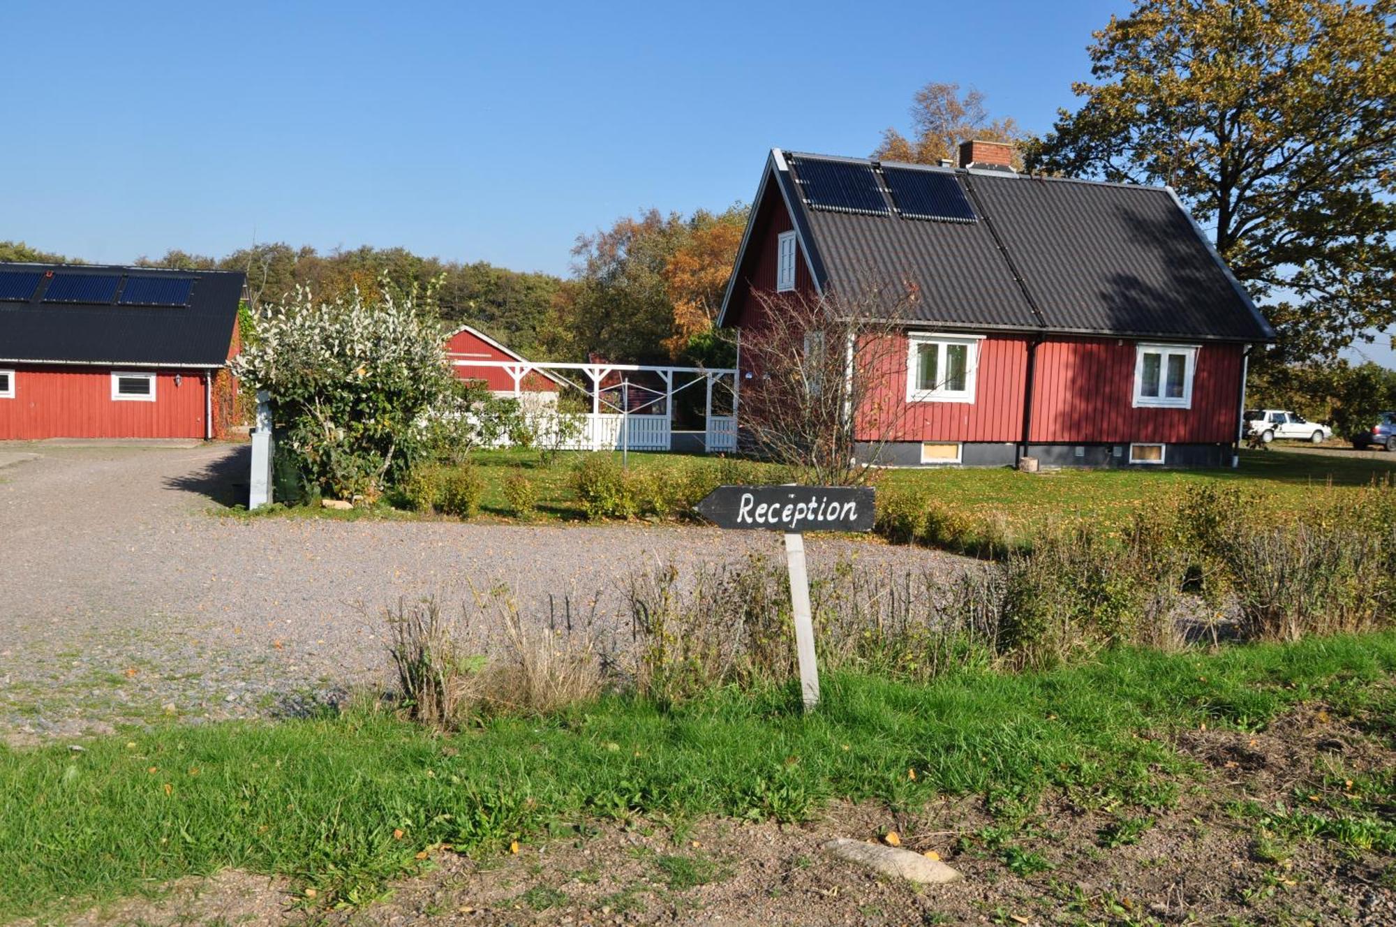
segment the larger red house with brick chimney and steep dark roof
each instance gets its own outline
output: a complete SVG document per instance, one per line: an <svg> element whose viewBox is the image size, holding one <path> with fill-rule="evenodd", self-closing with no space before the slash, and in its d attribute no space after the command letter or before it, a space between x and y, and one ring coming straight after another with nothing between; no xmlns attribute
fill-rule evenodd
<svg viewBox="0 0 1396 927"><path fill-rule="evenodd" d="M878 383L905 415L886 444L854 422L884 464L1230 464L1270 325L1171 190L1025 176L1011 155L773 149L719 324L758 327L762 293L886 302L906 349Z"/></svg>

